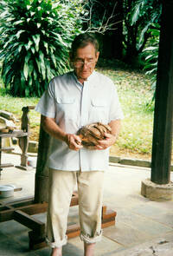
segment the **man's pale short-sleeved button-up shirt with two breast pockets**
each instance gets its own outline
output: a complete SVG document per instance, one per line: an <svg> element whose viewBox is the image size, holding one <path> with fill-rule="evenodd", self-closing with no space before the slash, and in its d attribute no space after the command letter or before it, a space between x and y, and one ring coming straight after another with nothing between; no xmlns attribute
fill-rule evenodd
<svg viewBox="0 0 173 256"><path fill-rule="evenodd" d="M74 72L59 75L49 83L35 110L54 118L66 133L76 134L92 122L105 124L123 118L116 87L106 75L93 71L84 84ZM71 150L67 143L52 138L48 167L64 171L104 171L108 167L109 148Z"/></svg>

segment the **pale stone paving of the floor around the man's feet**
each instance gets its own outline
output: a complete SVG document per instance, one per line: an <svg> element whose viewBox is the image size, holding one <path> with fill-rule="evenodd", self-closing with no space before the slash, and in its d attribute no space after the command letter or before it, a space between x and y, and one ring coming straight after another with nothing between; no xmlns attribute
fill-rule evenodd
<svg viewBox="0 0 173 256"><path fill-rule="evenodd" d="M12 159L17 164L18 157L3 154L3 162ZM173 201L151 201L140 194L141 181L150 177L149 167L110 164L105 175L104 203L117 212L116 224L103 230L95 256L173 256ZM7 168L2 172L0 184L13 184L22 187L22 191L5 200L33 196L34 182L34 168L29 171ZM46 220L45 213L35 217ZM77 221L78 207L70 207L68 222ZM0 256L49 255L48 247L29 251L28 233L29 229L15 220L0 223ZM68 240L63 247L63 256L82 255L83 244L79 237Z"/></svg>

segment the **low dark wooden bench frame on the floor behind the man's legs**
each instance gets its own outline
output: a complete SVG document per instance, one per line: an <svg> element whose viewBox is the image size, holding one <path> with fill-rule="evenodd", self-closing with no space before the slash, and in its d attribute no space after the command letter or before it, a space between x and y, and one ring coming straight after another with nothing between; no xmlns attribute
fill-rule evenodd
<svg viewBox="0 0 173 256"><path fill-rule="evenodd" d="M78 193L74 192L70 207L78 205ZM0 203L0 222L16 220L29 231L29 249L35 250L47 246L45 241L45 223L36 219L34 214L45 213L48 208L47 202L35 203L33 198L16 200L9 203ZM102 207L102 228L115 225L116 212ZM67 238L79 236L80 226L77 224L67 226Z"/></svg>

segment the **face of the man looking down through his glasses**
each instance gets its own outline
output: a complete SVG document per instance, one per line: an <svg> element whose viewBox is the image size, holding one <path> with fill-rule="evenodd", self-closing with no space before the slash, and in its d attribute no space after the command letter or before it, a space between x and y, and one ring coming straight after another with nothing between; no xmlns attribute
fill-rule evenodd
<svg viewBox="0 0 173 256"><path fill-rule="evenodd" d="M74 62L74 71L79 81L86 81L87 77L93 73L96 62L99 58L99 52L95 52L92 43L89 43L84 48L76 50L76 54L72 62Z"/></svg>

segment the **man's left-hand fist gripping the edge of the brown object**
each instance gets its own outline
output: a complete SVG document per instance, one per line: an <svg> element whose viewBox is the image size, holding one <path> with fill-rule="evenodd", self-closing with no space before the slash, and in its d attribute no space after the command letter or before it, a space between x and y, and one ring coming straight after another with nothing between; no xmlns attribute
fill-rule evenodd
<svg viewBox="0 0 173 256"><path fill-rule="evenodd" d="M72 150L80 150L80 148L83 148L81 145L81 139L80 136L78 135L73 135L73 134L67 134L66 139L65 139L68 148Z"/></svg>

